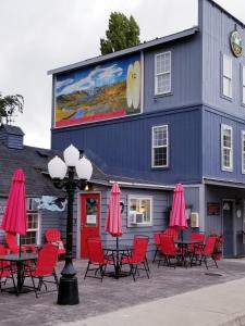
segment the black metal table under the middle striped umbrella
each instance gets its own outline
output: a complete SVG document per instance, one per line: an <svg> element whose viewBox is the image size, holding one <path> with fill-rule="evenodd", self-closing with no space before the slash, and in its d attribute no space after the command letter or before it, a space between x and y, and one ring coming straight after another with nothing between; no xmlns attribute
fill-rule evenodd
<svg viewBox="0 0 245 326"><path fill-rule="evenodd" d="M130 273L121 272L120 260L123 254L126 254L126 255L131 254L132 246L123 246L123 244L119 244L118 247L117 246L105 246L103 251L106 252L106 255L112 254L112 256L115 258L114 263L113 263L114 272L106 274L106 275L113 276L117 279L119 277L124 277L124 276L130 275Z"/></svg>

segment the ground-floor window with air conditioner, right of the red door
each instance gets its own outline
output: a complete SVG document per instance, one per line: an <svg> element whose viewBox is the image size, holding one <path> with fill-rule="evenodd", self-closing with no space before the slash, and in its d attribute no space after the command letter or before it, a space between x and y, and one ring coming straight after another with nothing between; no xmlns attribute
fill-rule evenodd
<svg viewBox="0 0 245 326"><path fill-rule="evenodd" d="M152 224L151 197L128 196L127 226Z"/></svg>

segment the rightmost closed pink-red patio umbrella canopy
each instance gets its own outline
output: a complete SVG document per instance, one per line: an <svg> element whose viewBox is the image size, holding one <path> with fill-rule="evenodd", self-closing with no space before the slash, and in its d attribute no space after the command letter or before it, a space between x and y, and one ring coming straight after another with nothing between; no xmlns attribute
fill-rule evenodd
<svg viewBox="0 0 245 326"><path fill-rule="evenodd" d="M180 230L188 228L185 211L184 187L182 184L177 184L174 188L172 209L170 212L170 226Z"/></svg>

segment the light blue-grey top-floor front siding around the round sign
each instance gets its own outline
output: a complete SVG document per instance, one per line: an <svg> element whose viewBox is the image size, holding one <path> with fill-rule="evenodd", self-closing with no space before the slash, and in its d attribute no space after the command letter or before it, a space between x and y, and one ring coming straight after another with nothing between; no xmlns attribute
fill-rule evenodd
<svg viewBox="0 0 245 326"><path fill-rule="evenodd" d="M245 118L241 79L241 64L245 64L245 58L235 58L230 48L230 34L235 29L235 25L243 40L245 30L224 11L207 0L199 1L199 23L203 36L203 101ZM232 100L221 97L221 53L232 59Z"/></svg>

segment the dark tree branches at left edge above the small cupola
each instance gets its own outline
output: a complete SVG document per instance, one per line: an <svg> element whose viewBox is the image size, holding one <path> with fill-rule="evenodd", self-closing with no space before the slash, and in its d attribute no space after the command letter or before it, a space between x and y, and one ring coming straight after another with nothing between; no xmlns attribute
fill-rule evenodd
<svg viewBox="0 0 245 326"><path fill-rule="evenodd" d="M11 121L11 116L16 110L21 113L23 112L23 96L16 93L14 96L2 97L2 95L0 93L0 125L4 120L5 123L9 124Z"/></svg>

